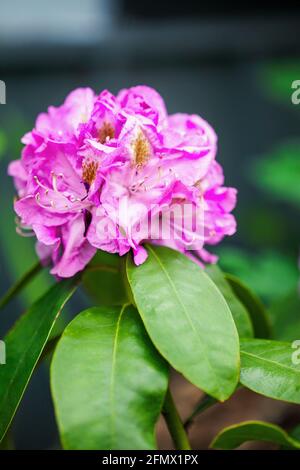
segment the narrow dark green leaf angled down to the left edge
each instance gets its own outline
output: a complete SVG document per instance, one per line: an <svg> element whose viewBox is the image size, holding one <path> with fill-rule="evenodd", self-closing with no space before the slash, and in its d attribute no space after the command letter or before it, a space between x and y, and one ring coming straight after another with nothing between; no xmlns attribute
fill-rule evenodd
<svg viewBox="0 0 300 470"><path fill-rule="evenodd" d="M0 441L18 408L53 325L75 290L76 279L55 284L17 321L5 337L6 364L0 366Z"/></svg>

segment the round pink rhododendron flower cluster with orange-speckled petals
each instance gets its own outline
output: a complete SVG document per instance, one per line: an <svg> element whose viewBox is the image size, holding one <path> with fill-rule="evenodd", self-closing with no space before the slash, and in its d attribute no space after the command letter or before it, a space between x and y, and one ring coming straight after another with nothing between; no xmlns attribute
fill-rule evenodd
<svg viewBox="0 0 300 470"><path fill-rule="evenodd" d="M223 186L215 132L197 115L168 115L149 87L117 96L79 88L40 114L22 142L22 158L9 166L19 229L33 231L58 277L82 270L97 249L120 256L132 249L143 263L149 237L138 226L174 204L200 208L196 252L184 223L176 237L153 243L214 262L204 246L235 232L236 190Z"/></svg>

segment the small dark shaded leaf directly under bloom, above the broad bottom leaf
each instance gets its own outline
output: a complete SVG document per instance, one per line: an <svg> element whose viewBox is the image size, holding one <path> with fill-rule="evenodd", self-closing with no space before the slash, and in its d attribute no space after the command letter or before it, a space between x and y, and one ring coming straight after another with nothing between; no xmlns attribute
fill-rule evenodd
<svg viewBox="0 0 300 470"><path fill-rule="evenodd" d="M117 255L98 250L89 269L85 271L82 282L98 305L123 305L126 302L121 262Z"/></svg>

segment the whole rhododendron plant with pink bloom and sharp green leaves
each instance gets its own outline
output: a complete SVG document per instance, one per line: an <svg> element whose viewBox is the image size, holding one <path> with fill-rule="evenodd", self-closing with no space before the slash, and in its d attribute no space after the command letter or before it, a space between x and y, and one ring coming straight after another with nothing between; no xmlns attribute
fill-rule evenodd
<svg viewBox="0 0 300 470"><path fill-rule="evenodd" d="M290 344L271 339L260 300L217 265L213 245L236 231L237 191L225 186L210 124L168 114L147 86L116 96L80 88L40 114L22 142L8 173L17 231L35 237L39 262L0 305L41 269L55 282L6 337L0 439L53 350L51 390L66 449L153 449L161 413L174 445L190 449L192 418L178 416L170 368L206 394L193 417L239 386L300 403ZM57 333L78 288L89 307ZM225 429L212 446L257 438L300 446L263 422Z"/></svg>

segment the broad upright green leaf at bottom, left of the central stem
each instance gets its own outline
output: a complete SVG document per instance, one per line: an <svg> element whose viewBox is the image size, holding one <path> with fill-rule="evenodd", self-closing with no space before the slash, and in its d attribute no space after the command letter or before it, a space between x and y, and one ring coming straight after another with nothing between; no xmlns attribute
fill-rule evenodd
<svg viewBox="0 0 300 470"><path fill-rule="evenodd" d="M153 449L168 368L133 306L95 307L66 328L51 388L65 449Z"/></svg>

